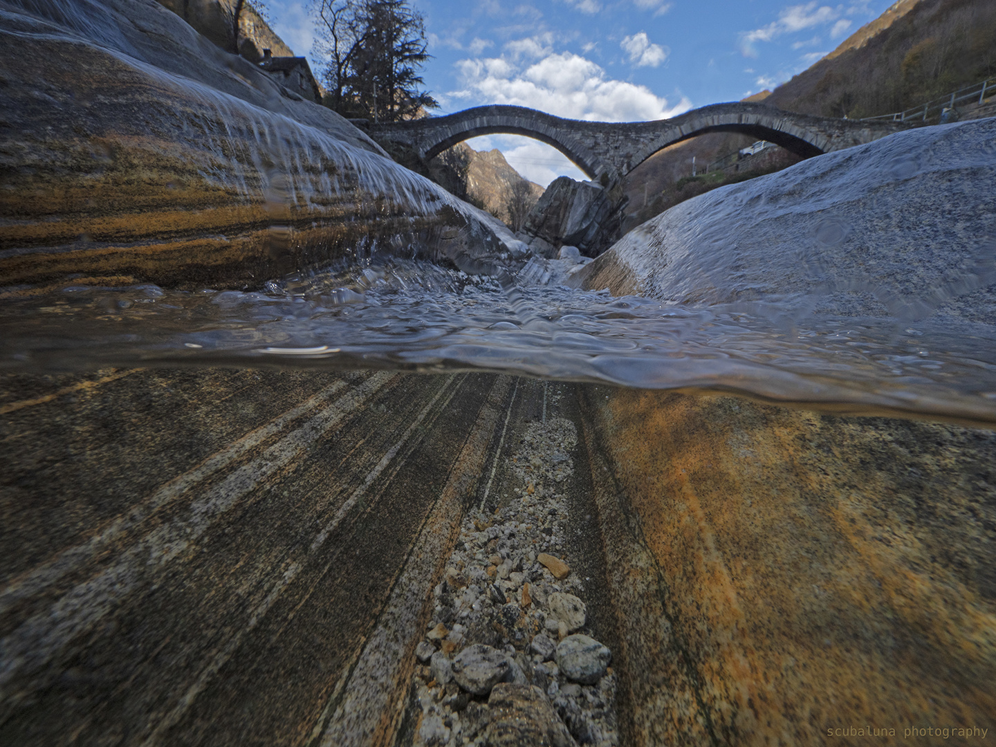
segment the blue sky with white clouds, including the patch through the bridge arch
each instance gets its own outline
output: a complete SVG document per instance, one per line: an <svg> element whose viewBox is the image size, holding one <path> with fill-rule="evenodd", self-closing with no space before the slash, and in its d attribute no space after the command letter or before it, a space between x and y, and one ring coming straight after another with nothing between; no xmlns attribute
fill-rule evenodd
<svg viewBox="0 0 996 747"><path fill-rule="evenodd" d="M437 114L515 104L578 120L653 120L738 101L787 81L879 16L892 0L413 0L425 17L426 88ZM268 0L274 28L311 57L307 0ZM317 70L316 70L317 72ZM468 140L498 147L546 185L583 174L525 137Z"/></svg>

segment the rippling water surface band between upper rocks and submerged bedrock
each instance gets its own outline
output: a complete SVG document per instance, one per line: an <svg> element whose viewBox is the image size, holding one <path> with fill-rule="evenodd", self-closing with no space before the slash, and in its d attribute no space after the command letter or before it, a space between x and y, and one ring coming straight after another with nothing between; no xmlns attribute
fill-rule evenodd
<svg viewBox="0 0 996 747"><path fill-rule="evenodd" d="M68 286L0 310L0 365L485 369L996 423L988 327L795 318L391 260L263 292Z"/></svg>

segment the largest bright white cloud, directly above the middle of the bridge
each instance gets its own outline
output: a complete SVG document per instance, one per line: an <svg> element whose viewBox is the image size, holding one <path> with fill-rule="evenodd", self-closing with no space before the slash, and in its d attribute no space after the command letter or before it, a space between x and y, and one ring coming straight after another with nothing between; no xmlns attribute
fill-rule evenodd
<svg viewBox="0 0 996 747"><path fill-rule="evenodd" d="M594 122L642 122L691 109L674 106L645 86L609 79L596 63L570 52L550 53L523 68L517 60L461 60L461 90L449 96L472 104L508 104Z"/></svg>

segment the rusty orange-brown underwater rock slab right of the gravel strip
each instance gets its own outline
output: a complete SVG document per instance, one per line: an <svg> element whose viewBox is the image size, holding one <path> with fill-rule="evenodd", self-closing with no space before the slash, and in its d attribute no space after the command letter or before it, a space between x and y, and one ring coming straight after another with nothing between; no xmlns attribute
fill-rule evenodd
<svg viewBox="0 0 996 747"><path fill-rule="evenodd" d="M996 433L578 391L628 744L992 733Z"/></svg>

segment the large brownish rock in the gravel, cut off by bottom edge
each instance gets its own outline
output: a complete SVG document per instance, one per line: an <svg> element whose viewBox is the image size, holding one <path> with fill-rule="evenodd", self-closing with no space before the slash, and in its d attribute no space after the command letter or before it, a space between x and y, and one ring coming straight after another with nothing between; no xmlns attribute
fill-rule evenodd
<svg viewBox="0 0 996 747"><path fill-rule="evenodd" d="M500 682L488 698L491 721L489 747L575 747L577 742L550 705L543 691L528 684Z"/></svg>

